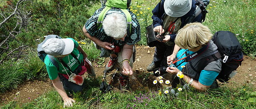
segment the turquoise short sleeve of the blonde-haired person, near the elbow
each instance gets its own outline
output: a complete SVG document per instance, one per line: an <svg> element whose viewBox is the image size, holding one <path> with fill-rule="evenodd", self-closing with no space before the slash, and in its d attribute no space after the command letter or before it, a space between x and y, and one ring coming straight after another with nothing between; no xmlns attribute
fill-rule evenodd
<svg viewBox="0 0 256 109"><path fill-rule="evenodd" d="M198 81L203 85L210 86L213 81L215 81L218 74L219 73L215 71L202 70Z"/></svg>

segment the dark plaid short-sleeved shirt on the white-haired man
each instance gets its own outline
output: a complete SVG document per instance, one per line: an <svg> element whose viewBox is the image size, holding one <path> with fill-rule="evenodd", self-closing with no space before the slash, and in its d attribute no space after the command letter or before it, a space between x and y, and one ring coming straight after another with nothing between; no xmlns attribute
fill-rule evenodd
<svg viewBox="0 0 256 109"><path fill-rule="evenodd" d="M134 15L130 10L128 10L131 14L132 18L132 27L131 27L131 34L127 32L127 36L125 37L125 41L121 40L114 40L112 37L107 36L103 30L103 28L97 29L97 20L99 17L100 12L104 9L104 7L99 8L96 10L92 17L90 17L89 20L85 23L85 28L90 34L90 36L95 36L96 38L100 39L102 42L114 42L114 45L134 45L135 43L140 41L140 24ZM119 13L122 14L125 17L125 14L121 11L119 8L111 8L106 15L111 13ZM105 16L106 17L106 16ZM127 29L128 31L128 29Z"/></svg>

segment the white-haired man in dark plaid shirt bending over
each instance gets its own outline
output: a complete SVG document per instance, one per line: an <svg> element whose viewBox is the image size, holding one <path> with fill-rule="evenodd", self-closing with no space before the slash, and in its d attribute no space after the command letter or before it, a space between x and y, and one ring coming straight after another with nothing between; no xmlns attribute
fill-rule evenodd
<svg viewBox="0 0 256 109"><path fill-rule="evenodd" d="M141 39L140 24L134 13L127 9L132 20L130 33L125 14L119 8L111 8L106 13L102 27L98 28L97 20L103 8L94 12L82 30L84 35L95 43L96 48L101 50L101 57L110 57L106 71L111 71L120 64L122 73L119 80L122 88L128 89L128 76L133 74L132 65L135 60L134 44Z"/></svg>

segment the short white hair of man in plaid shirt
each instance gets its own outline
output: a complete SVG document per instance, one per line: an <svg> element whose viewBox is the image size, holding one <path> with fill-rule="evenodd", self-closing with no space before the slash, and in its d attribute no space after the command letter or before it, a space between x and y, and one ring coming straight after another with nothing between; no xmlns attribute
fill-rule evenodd
<svg viewBox="0 0 256 109"><path fill-rule="evenodd" d="M105 34L115 39L125 36L127 32L127 22L125 17L119 13L108 14L102 23Z"/></svg>

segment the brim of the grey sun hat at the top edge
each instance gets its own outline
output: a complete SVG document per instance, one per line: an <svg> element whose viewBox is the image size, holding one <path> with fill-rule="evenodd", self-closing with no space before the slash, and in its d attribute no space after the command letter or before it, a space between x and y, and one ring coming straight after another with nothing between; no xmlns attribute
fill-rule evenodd
<svg viewBox="0 0 256 109"><path fill-rule="evenodd" d="M170 3L169 1L170 0L165 0L165 2L163 3L163 8L165 13L171 17L182 17L190 11L192 6L192 0L189 0L189 4L184 5L184 7L180 8L179 10L174 10L170 6L172 3Z"/></svg>

